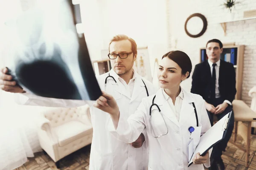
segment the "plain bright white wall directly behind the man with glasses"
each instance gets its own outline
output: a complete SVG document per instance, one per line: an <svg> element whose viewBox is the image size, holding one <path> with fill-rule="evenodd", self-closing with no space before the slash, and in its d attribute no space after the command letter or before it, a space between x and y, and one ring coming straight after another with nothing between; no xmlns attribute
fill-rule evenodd
<svg viewBox="0 0 256 170"><path fill-rule="evenodd" d="M90 3L87 5L90 6L87 8L95 7ZM85 23L93 24L87 28L91 31L85 36L89 51L93 51L91 59L101 59L99 50L108 49L109 41L114 35L126 34L137 42L138 47L148 46L153 69L155 58L162 57L167 51L166 0L97 0L94 5L99 13L90 9L91 13L86 11L82 16L87 18ZM97 22L92 21L97 20L97 17ZM93 36L96 36L96 40L93 40Z"/></svg>

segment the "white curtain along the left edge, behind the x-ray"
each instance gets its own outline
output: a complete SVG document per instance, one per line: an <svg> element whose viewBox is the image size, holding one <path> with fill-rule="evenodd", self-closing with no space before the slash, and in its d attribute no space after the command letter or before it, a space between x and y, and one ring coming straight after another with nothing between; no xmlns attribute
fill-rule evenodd
<svg viewBox="0 0 256 170"><path fill-rule="evenodd" d="M21 12L20 2L27 8L33 0L0 0L0 68L3 68L11 44L8 35L11 29L6 21ZM36 107L21 106L14 102L13 94L0 90L0 170L12 170L20 167L41 151L37 137L40 110Z"/></svg>

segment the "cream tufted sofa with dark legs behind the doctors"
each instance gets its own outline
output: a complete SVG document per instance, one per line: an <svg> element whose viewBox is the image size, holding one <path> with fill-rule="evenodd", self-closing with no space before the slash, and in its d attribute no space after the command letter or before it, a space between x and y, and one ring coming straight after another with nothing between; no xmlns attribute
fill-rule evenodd
<svg viewBox="0 0 256 170"><path fill-rule="evenodd" d="M92 142L92 124L88 105L77 108L54 108L42 116L38 138L43 150L55 161Z"/></svg>

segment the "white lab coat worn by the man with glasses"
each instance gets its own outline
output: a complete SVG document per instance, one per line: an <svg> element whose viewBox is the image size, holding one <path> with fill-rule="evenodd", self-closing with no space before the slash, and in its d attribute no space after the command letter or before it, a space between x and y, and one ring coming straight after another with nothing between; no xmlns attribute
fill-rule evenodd
<svg viewBox="0 0 256 170"><path fill-rule="evenodd" d="M102 91L105 91L105 78L109 73L105 73L97 77L98 83ZM135 113L142 99L147 97L145 85L148 89L148 94L155 93L153 85L148 80L136 74L133 94L130 97L130 91L125 88L118 88L113 79L108 78L107 93L116 98L116 102L122 111L123 118ZM110 75L118 81L117 74L111 70ZM145 85L142 82L145 82ZM120 84L119 84L120 85ZM122 86L119 86L122 87ZM24 96L25 95L25 96ZM51 107L76 107L85 105L86 101L52 99L39 97L31 94L17 96L17 102L21 98L25 105L43 105ZM122 98L120 97L122 95ZM120 99L119 99L120 98ZM116 139L107 129L108 122L111 120L108 113L105 113L93 106L90 107L91 121L93 126L93 140L90 152L90 170L146 170L148 167L148 139L146 133L145 142L140 148L134 148L130 144L121 142Z"/></svg>

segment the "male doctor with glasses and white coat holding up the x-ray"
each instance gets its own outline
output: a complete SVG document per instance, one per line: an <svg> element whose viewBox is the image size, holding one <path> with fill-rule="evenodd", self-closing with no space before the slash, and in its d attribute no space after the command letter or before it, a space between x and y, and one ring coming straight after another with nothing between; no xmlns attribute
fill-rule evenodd
<svg viewBox="0 0 256 170"><path fill-rule="evenodd" d="M114 96L125 117L133 114L142 99L154 94L151 82L138 75L134 69L137 58L137 44L126 35L117 35L109 43L111 71L100 75L97 80L102 91ZM53 99L28 94L11 81L7 69L0 73L0 88L17 94L16 101L23 105L41 105L52 107L76 107L85 105L85 101ZM105 80L107 83L105 84ZM116 81L116 82L115 82ZM126 144L117 140L106 129L111 121L108 114L90 107L93 126L93 140L90 153L90 170L146 170L148 167L147 136L143 133L139 138ZM144 131L143 131L144 132Z"/></svg>

